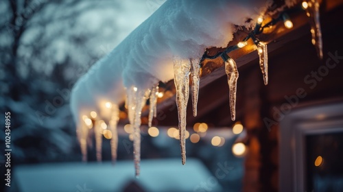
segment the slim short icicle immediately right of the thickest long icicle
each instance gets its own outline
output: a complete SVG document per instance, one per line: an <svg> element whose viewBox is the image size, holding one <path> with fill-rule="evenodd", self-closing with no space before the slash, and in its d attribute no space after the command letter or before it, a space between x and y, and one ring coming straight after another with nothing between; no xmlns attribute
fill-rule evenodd
<svg viewBox="0 0 343 192"><path fill-rule="evenodd" d="M191 59L191 77L192 77L192 106L193 116L197 115L199 82L200 82L200 59Z"/></svg>

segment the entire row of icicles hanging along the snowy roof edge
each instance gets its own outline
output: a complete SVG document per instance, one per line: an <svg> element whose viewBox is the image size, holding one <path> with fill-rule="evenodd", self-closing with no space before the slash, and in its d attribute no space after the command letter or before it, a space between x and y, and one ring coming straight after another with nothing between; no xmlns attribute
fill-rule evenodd
<svg viewBox="0 0 343 192"><path fill-rule="evenodd" d="M316 0L304 1L302 3L303 9L306 10L307 16L309 16L311 24L312 43L316 46L318 56L322 58L322 34L320 31L319 21L319 3ZM261 24L262 18L258 19L258 24ZM287 28L292 27L291 21L284 21ZM244 47L247 42L240 42L237 44L239 48ZM257 46L257 53L259 54L259 66L263 74L263 82L268 84L268 50L267 44L262 42L255 42ZM224 60L226 75L228 76L229 87L229 103L231 119L235 121L235 104L236 104L236 90L237 79L239 76L237 65L235 60L228 57L227 53L222 53L222 59ZM178 108L178 128L180 133L180 148L182 165L186 163L186 115L187 115L187 103L189 99L189 75L192 78L191 84L191 98L193 104L193 116L197 115L197 103L198 103L198 91L200 82L200 58L180 59L174 58L174 83L176 86L176 105ZM152 119L156 117L156 101L158 95L158 84L154 84L152 88L145 90L139 90L139 88L132 86L127 88L126 106L128 108L128 119L130 125L133 128L133 148L134 148L134 167L135 175L139 176L140 173L140 160L141 160L141 110L145 105L147 99L150 100L149 108L149 127L152 126ZM97 152L97 160L102 160L102 134L108 139L111 139L111 154L112 159L117 159L117 146L118 146L118 134L117 123L119 121L119 106L107 102L106 108L110 110L110 117L107 119L106 124L101 119L97 118L96 112L92 111L90 117L83 116L84 125L82 130L79 130L81 135L80 145L83 154L83 160L86 160L87 145L86 139L88 137L89 128L95 128L95 148ZM109 130L109 132L106 132ZM106 132L106 133L105 133ZM107 135L106 135L107 134Z"/></svg>

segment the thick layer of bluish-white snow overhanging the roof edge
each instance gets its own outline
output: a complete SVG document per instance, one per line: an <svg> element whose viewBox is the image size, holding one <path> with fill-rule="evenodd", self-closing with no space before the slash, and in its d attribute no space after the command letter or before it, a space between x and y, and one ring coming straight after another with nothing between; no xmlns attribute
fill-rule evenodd
<svg viewBox="0 0 343 192"><path fill-rule="evenodd" d="M247 19L260 14L255 8L266 6L262 0L166 1L75 84L74 117L103 99L122 102L124 86L151 88L173 79L173 56L200 58L207 47L226 47L234 25L251 25Z"/></svg>

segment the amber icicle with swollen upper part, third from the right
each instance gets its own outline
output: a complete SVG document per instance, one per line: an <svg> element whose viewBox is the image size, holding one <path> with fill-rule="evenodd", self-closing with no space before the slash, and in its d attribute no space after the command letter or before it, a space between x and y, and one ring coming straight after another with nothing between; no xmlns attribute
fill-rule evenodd
<svg viewBox="0 0 343 192"><path fill-rule="evenodd" d="M236 119L236 90L237 90L237 80L238 80L238 70L235 60L229 58L226 53L222 54L222 59L225 61L225 71L228 75L228 88L229 88L229 101L230 101L230 111L231 120Z"/></svg>

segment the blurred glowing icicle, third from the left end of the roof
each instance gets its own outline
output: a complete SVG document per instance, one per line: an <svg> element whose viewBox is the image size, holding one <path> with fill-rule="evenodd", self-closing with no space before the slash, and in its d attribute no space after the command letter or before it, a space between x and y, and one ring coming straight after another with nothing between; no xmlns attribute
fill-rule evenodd
<svg viewBox="0 0 343 192"><path fill-rule="evenodd" d="M112 162L115 163L117 160L117 148L118 148L118 132L117 124L119 121L119 106L113 105L112 114L110 119L110 132L112 132L112 138L110 140L110 149L112 155Z"/></svg>

